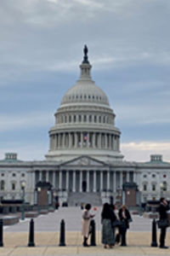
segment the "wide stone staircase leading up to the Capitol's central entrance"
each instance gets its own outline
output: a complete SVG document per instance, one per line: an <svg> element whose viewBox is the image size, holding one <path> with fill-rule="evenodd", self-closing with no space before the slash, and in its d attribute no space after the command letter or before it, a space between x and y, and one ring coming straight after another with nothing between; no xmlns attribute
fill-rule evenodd
<svg viewBox="0 0 170 256"><path fill-rule="evenodd" d="M101 206L100 192L69 192L68 207L80 206L81 203L85 206L90 203L93 207Z"/></svg>

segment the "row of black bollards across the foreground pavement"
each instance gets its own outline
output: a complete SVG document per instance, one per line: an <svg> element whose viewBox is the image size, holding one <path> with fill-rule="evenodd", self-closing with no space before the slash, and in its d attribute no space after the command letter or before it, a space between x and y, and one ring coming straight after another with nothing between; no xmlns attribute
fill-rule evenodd
<svg viewBox="0 0 170 256"><path fill-rule="evenodd" d="M90 238L90 246L96 246L95 242L95 222L94 219L91 221L91 238ZM126 243L126 224L122 223L122 244L121 246L127 246ZM0 247L3 247L3 219L0 219ZM30 221L30 233L29 233L29 241L28 247L35 247L34 242L34 221L31 218ZM59 236L59 247L65 247L65 221L61 220L60 223L60 236ZM157 247L156 241L156 220L154 218L152 222L152 242L151 247Z"/></svg>

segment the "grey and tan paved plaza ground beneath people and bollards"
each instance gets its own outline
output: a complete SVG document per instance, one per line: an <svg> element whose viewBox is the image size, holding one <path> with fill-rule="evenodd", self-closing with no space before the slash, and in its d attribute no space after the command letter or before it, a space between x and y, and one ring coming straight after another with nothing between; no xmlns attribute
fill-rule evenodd
<svg viewBox="0 0 170 256"><path fill-rule="evenodd" d="M34 219L36 247L27 247L30 219L20 221L13 226L5 226L3 233L4 247L0 247L0 255L167 255L167 250L150 247L152 220L133 215L133 223L127 232L127 247L116 245L113 249L104 249L101 244L100 212L96 214L96 247L82 247L81 220L82 210L79 207L59 208L59 211L41 215ZM65 220L65 247L59 247L59 226ZM170 229L169 229L170 230ZM167 231L166 244L170 247L170 233ZM159 232L157 233L158 241Z"/></svg>

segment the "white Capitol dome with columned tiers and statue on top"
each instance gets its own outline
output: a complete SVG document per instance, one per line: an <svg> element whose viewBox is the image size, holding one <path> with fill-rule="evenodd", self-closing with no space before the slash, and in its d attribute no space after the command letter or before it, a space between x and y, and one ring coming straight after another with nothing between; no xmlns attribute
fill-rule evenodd
<svg viewBox="0 0 170 256"><path fill-rule="evenodd" d="M71 160L81 155L98 160L123 158L119 149L121 132L115 126L116 114L105 92L94 84L91 68L85 45L80 78L65 93L54 113L47 160Z"/></svg>

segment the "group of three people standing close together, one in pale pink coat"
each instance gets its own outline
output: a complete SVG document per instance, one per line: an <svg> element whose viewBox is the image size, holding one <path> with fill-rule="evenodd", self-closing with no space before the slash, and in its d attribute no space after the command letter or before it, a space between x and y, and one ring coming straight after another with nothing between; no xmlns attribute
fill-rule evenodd
<svg viewBox="0 0 170 256"><path fill-rule="evenodd" d="M88 247L88 235L90 228L90 219L94 218L94 215L90 214L89 210L91 205L87 204L82 212L82 236L83 236L83 246ZM129 228L129 223L132 221L130 212L127 210L126 205L122 205L120 210L116 212L116 207L105 203L101 212L101 223L102 223L102 243L104 247L108 246L112 248L115 243L119 242L120 239L116 239L116 229L117 237L122 235L122 223L125 226L125 233Z"/></svg>

